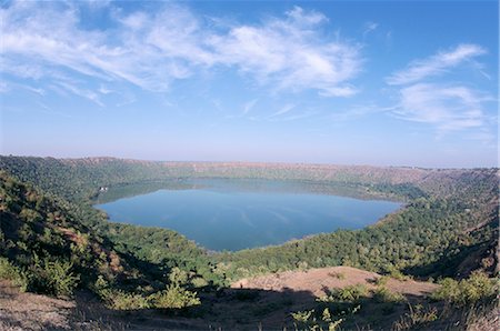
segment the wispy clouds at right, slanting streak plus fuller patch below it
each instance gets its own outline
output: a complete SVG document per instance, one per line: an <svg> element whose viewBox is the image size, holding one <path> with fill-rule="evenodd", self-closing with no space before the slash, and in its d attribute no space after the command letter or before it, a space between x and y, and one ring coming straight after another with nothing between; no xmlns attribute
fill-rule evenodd
<svg viewBox="0 0 500 331"><path fill-rule="evenodd" d="M433 126L439 136L458 130L488 132L490 121L486 107L494 98L470 83L449 80L447 76L486 52L477 44L459 44L451 51L412 61L407 69L387 78L389 84L396 86L393 92L399 100L390 112L402 120ZM474 62L472 68L477 70L481 66ZM430 80L437 76L440 76L439 81Z"/></svg>

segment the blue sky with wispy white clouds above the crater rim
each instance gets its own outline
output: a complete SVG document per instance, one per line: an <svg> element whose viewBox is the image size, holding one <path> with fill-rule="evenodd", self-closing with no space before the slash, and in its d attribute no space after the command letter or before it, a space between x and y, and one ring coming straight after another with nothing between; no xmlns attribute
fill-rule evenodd
<svg viewBox="0 0 500 331"><path fill-rule="evenodd" d="M497 1L0 3L2 154L498 164Z"/></svg>

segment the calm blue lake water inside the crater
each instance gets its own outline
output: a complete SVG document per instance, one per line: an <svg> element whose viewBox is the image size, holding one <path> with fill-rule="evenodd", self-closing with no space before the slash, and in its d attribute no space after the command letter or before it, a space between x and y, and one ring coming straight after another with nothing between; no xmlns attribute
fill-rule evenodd
<svg viewBox="0 0 500 331"><path fill-rule="evenodd" d="M360 229L401 205L334 195L338 190L328 185L278 181L193 180L162 187L153 192L133 185L110 189L101 201L107 195L118 200L96 207L111 221L168 228L207 249L234 251Z"/></svg>

